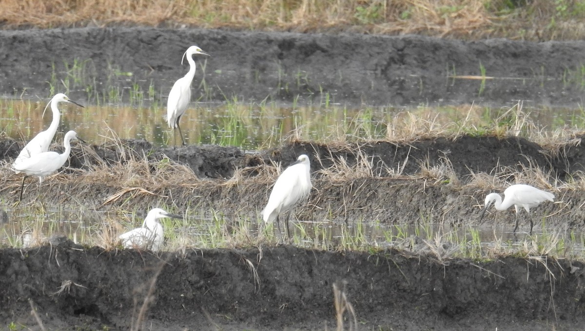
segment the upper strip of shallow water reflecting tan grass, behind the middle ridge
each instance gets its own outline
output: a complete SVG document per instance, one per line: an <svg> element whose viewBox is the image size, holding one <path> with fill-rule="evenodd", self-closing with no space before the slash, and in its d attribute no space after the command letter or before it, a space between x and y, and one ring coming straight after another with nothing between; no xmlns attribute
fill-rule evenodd
<svg viewBox="0 0 585 331"><path fill-rule="evenodd" d="M0 123L9 137L28 141L46 130L52 120L48 100L0 99ZM68 130L92 144L136 138L156 146L173 144L173 131L166 123L166 107L146 100L134 105L92 105L80 108L60 104L60 141ZM521 112L518 112L518 109ZM422 121L429 130L460 130L462 127L531 127L542 132L581 130L583 109L535 106L530 102L492 108L480 104L461 106L347 107L321 100L318 104L191 103L180 121L188 144L232 145L246 149L267 148L295 136L313 141L384 139ZM177 140L180 141L177 132ZM60 142L62 144L62 142Z"/></svg>

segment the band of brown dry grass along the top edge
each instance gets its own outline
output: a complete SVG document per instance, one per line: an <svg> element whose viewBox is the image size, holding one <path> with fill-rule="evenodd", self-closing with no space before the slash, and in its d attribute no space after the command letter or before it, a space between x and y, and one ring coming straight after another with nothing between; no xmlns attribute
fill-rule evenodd
<svg viewBox="0 0 585 331"><path fill-rule="evenodd" d="M582 39L583 18L579 0L5 0L0 6L8 29L130 24L464 39Z"/></svg>

